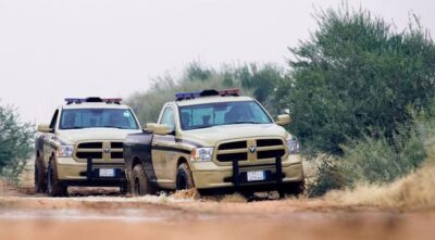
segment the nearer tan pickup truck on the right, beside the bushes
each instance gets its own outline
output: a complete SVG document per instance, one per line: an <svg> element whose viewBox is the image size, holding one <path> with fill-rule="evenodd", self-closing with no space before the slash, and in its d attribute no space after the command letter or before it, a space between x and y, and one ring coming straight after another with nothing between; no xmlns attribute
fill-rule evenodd
<svg viewBox="0 0 435 240"><path fill-rule="evenodd" d="M127 180L136 195L196 188L200 193L303 191L297 138L239 89L181 92L158 123L124 140Z"/></svg>

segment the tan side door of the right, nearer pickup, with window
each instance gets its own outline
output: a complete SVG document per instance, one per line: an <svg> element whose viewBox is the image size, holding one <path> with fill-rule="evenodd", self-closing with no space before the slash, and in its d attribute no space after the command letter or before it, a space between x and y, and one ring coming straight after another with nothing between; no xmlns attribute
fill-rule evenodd
<svg viewBox="0 0 435 240"><path fill-rule="evenodd" d="M171 163L175 161L175 118L172 106L169 105L163 110L159 124L167 125L173 132L165 136L154 135L151 152L158 181L162 185L161 187L169 187L172 181L170 167L174 167L174 164Z"/></svg>

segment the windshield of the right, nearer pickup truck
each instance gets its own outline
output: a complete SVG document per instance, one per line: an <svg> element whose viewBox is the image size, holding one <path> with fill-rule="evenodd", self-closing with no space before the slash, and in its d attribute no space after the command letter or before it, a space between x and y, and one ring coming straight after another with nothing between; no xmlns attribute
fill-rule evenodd
<svg viewBox="0 0 435 240"><path fill-rule="evenodd" d="M270 124L272 119L256 101L216 102L181 108L184 130L229 124Z"/></svg>

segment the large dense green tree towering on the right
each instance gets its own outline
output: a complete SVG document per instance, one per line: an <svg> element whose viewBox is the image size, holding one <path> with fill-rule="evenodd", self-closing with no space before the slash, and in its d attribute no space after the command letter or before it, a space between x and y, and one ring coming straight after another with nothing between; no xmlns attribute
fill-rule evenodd
<svg viewBox="0 0 435 240"><path fill-rule="evenodd" d="M365 10L326 10L318 29L290 48L290 73L275 102L289 108L290 130L306 150L341 154L364 134L393 137L435 94L435 46L414 17L403 31Z"/></svg>

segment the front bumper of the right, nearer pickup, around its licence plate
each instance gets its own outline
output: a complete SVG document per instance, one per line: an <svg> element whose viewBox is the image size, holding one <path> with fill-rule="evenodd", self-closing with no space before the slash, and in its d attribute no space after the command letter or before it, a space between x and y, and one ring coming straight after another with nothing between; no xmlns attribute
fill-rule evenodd
<svg viewBox="0 0 435 240"><path fill-rule="evenodd" d="M235 161L232 166L216 166L213 169L195 167L192 177L198 189L248 188L256 186L260 189L261 186L273 188L283 184L303 181L302 163L294 161L294 156L291 159L293 161L276 159L274 163L258 165L239 165ZM265 179L262 181L247 181L246 173L254 170L264 170Z"/></svg>

